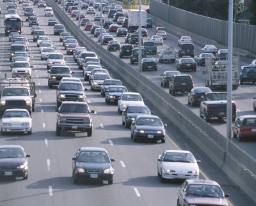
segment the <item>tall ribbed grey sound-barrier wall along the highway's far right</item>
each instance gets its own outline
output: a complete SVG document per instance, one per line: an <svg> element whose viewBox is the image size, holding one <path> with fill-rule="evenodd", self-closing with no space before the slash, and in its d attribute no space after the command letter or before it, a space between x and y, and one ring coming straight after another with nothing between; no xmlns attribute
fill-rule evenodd
<svg viewBox="0 0 256 206"><path fill-rule="evenodd" d="M228 22L150 0L150 14L191 33L227 46ZM161 11L161 12L159 12ZM256 26L233 23L233 47L256 54Z"/></svg>

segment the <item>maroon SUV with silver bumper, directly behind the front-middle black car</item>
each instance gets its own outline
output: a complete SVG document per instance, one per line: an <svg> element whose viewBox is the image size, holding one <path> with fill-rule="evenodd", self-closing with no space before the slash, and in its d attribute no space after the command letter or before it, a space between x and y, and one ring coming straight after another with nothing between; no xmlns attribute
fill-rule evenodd
<svg viewBox="0 0 256 206"><path fill-rule="evenodd" d="M92 136L92 117L86 102L65 101L61 104L56 122L56 135L61 131L86 131L87 136Z"/></svg>

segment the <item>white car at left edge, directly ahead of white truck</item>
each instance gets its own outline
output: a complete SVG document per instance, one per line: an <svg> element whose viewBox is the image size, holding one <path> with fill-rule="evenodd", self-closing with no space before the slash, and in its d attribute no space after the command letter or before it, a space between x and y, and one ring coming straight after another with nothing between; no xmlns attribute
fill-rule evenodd
<svg viewBox="0 0 256 206"><path fill-rule="evenodd" d="M32 117L28 110L21 108L7 109L1 120L1 135L7 132L28 132L32 134Z"/></svg>

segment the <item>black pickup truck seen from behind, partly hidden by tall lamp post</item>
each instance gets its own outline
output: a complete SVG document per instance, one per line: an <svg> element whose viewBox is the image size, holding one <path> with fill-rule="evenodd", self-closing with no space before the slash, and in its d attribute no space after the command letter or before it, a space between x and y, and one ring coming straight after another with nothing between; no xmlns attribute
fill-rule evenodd
<svg viewBox="0 0 256 206"><path fill-rule="evenodd" d="M227 92L209 92L200 103L200 117L209 122L211 118L227 118ZM236 119L236 102L232 101L232 121Z"/></svg>

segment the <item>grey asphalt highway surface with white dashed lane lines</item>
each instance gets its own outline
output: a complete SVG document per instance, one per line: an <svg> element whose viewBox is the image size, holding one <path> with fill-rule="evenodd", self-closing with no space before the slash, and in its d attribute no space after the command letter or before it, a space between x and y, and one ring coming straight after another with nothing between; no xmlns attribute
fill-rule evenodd
<svg viewBox="0 0 256 206"><path fill-rule="evenodd" d="M5 3L2 4L3 8L5 6ZM60 47L61 52L67 57L67 65L75 72L73 77L79 77L83 80L82 71L77 69L77 64L72 59L72 55L66 55L59 41L59 36L54 36L52 27L47 26L49 17L44 17L44 8L35 8L35 10L36 16L40 17L40 26L44 27L54 45ZM56 112L54 112L56 109L56 90L47 87L46 64L45 61L40 60L39 49L36 47L36 43L33 42L30 27L25 20L21 4L18 4L18 13L24 20L22 32L29 39L28 52L31 64L34 66L32 80L36 82L37 98L35 112L33 112L32 135L12 134L0 138L1 145L21 145L28 154L31 154L28 180L4 179L0 181L1 206L176 205L177 189L182 182L168 181L161 183L157 177L156 161L159 154L166 149L186 149L193 152L196 159L202 161L199 165L200 178L214 179L219 182L225 193L230 193L230 205L252 205L246 195L232 185L227 176L221 173L196 145L181 136L166 119L163 119L163 122L168 124L166 143L132 142L129 129L122 126L122 117L116 112L116 105L107 106L104 98L100 96L100 92L86 92L90 109L97 112L92 117L92 137L87 137L86 133L74 132L63 132L61 136L56 136ZM0 15L1 19L4 18L4 14L6 14L6 10L3 9ZM150 29L150 33L152 31L153 29ZM5 73L8 77L11 75L8 58L10 42L8 37L4 35L3 21L1 21L0 35L2 41L0 46L0 78L3 79ZM174 37L172 40L171 36L168 36L169 41L173 45L177 45ZM118 52L115 53L118 54ZM136 66L134 67L136 68ZM144 73L160 85L159 74L167 69L174 70L175 66L173 64L163 64L159 71ZM200 85L200 79L203 79L202 73L197 71L191 73L191 75L193 75L196 85ZM113 74L113 78L119 77ZM86 88L90 89L88 82L83 80L83 83ZM253 89L253 85L244 85L244 87L248 91ZM239 95L244 94L241 89L236 92L241 92ZM181 102L187 102L185 96L177 98ZM247 99L248 102L251 100L249 97ZM239 105L238 101L237 104ZM147 101L146 105L157 115L159 108L154 107ZM246 103L241 103L241 105L246 108ZM212 124L220 127L225 126L223 122ZM247 144L244 143L245 147L250 150ZM254 143L250 144L253 145ZM79 147L104 147L111 158L116 159L113 163L115 168L113 185L102 184L101 182L82 182L77 185L72 183L72 157Z"/></svg>

